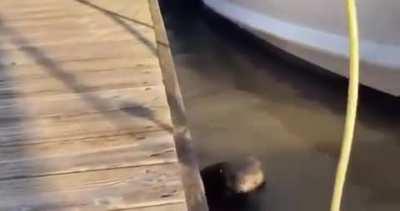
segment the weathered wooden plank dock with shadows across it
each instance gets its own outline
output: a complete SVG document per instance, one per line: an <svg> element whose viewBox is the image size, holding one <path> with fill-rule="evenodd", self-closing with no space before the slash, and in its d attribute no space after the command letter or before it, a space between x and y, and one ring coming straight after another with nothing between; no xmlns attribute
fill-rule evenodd
<svg viewBox="0 0 400 211"><path fill-rule="evenodd" d="M173 71L155 0L1 0L0 210L204 210Z"/></svg>

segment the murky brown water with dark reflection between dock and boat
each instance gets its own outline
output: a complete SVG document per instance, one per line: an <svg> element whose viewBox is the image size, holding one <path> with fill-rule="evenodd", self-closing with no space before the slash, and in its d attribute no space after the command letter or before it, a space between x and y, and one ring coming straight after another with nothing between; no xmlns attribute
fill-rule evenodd
<svg viewBox="0 0 400 211"><path fill-rule="evenodd" d="M229 210L328 210L345 80L288 63L233 25L180 4L162 7L201 166L252 154L268 176L267 190ZM344 210L398 211L400 104L362 92Z"/></svg>

